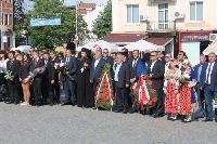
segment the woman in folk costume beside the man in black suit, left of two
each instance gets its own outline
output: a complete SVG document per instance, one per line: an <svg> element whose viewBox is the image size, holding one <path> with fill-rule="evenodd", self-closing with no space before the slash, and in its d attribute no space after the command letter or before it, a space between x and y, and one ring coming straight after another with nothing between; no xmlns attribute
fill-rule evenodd
<svg viewBox="0 0 217 144"><path fill-rule="evenodd" d="M165 74L164 93L165 93L165 112L170 115L174 121L179 113L179 78L181 70L179 69L178 61L173 60L169 63L169 70Z"/></svg>

